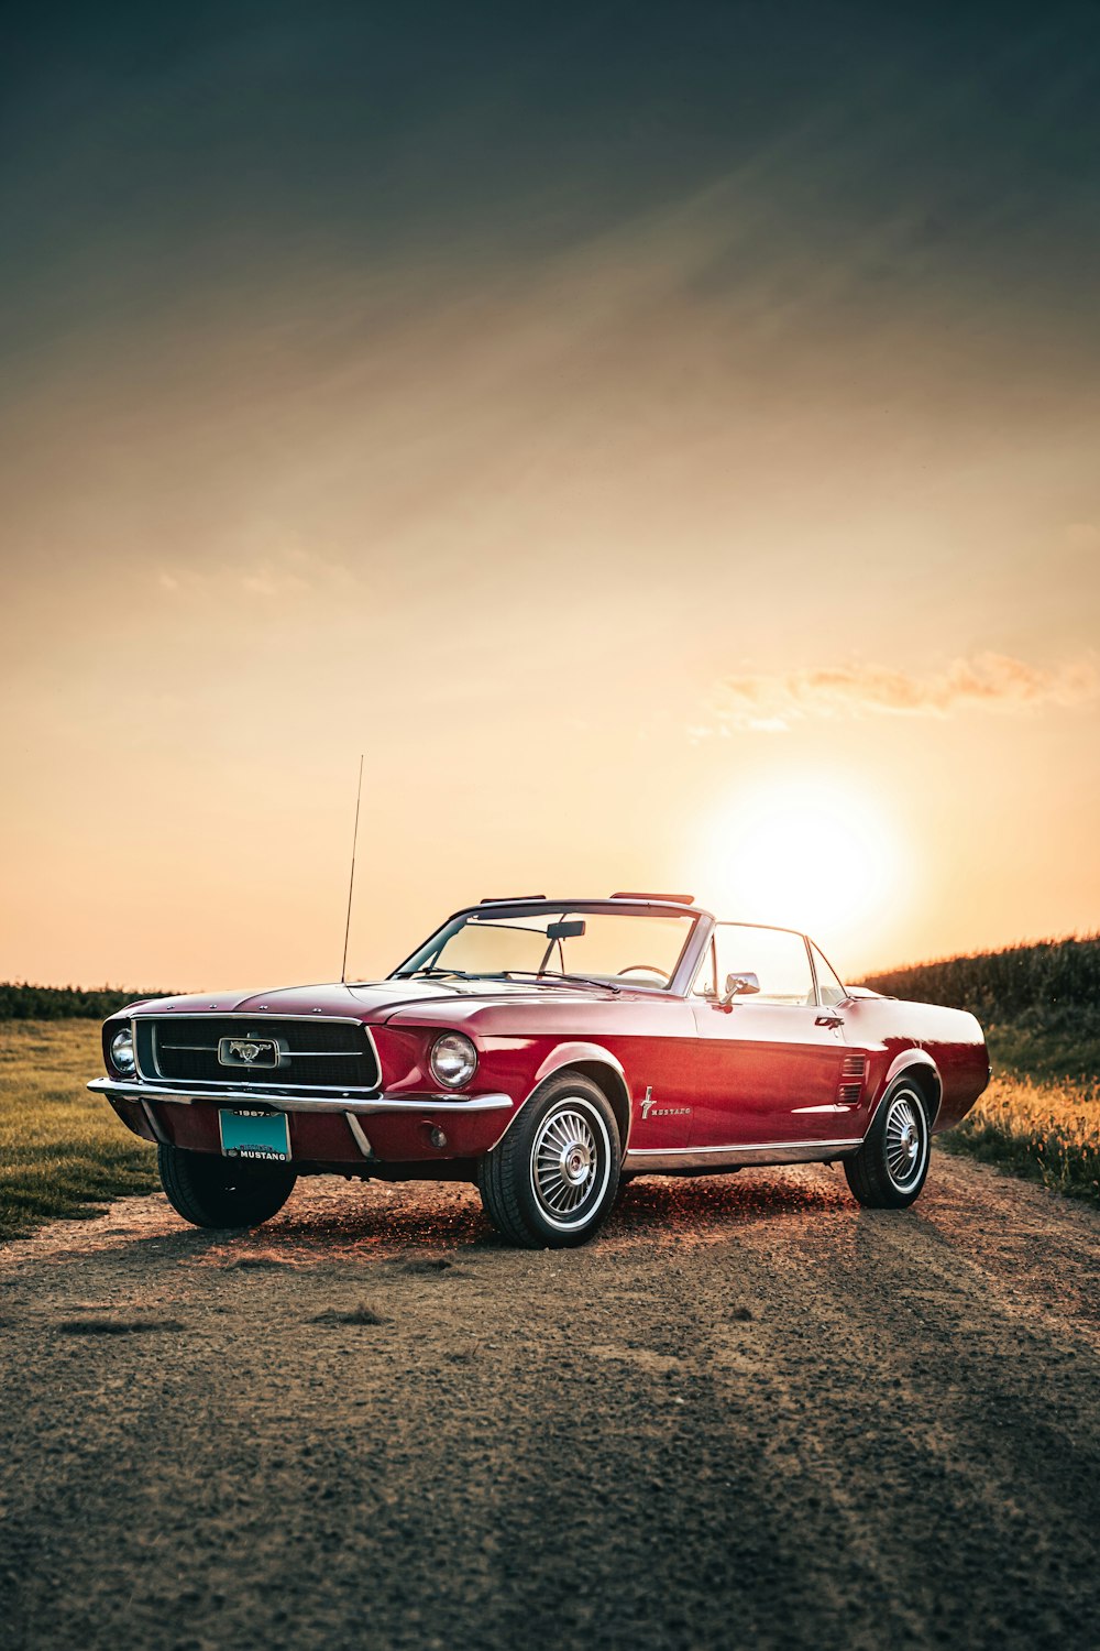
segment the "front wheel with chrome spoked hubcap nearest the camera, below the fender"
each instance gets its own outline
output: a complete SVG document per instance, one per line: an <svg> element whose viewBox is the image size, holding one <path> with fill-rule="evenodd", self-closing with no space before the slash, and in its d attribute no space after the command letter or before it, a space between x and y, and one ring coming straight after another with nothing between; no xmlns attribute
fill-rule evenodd
<svg viewBox="0 0 1100 1651"><path fill-rule="evenodd" d="M585 1243L618 1190L618 1124L597 1083L561 1071L534 1091L505 1139L477 1166L485 1213L523 1250Z"/></svg>

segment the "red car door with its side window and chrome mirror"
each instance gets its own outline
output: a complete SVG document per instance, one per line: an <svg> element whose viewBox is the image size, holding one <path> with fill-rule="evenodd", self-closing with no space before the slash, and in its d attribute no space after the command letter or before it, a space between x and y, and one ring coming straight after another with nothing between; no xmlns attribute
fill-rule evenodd
<svg viewBox="0 0 1100 1651"><path fill-rule="evenodd" d="M729 976L744 982L732 997ZM699 1080L693 1146L839 1139L844 1022L834 1005L818 1002L803 934L716 925L693 1009Z"/></svg>

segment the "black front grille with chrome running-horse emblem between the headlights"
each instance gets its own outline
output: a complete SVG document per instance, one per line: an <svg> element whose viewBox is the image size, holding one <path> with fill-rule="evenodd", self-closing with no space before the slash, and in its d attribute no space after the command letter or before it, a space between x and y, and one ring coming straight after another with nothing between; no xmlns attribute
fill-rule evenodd
<svg viewBox="0 0 1100 1651"><path fill-rule="evenodd" d="M226 1083L247 1088L376 1090L378 1060L358 1020L277 1020L274 1015L139 1015L137 1063L145 1078ZM223 1063L223 1038L234 1045L275 1043L256 1065ZM231 1055L229 1050L226 1050ZM277 1063L275 1063L277 1058Z"/></svg>

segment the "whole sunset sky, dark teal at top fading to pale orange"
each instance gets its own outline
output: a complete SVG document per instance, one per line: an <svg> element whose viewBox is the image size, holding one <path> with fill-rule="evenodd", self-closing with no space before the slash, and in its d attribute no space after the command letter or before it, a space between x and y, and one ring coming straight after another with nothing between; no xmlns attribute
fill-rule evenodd
<svg viewBox="0 0 1100 1651"><path fill-rule="evenodd" d="M1100 928L1100 13L40 8L5 46L0 977L693 890Z"/></svg>

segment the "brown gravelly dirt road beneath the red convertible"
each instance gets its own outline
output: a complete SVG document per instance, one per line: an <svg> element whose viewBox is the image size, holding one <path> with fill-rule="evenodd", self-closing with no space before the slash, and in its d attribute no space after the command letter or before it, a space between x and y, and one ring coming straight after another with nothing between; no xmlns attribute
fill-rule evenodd
<svg viewBox="0 0 1100 1651"><path fill-rule="evenodd" d="M571 1253L132 1199L0 1319L13 1648L1100 1643L1100 1217L965 1161L642 1180Z"/></svg>

